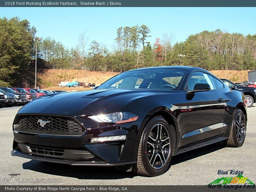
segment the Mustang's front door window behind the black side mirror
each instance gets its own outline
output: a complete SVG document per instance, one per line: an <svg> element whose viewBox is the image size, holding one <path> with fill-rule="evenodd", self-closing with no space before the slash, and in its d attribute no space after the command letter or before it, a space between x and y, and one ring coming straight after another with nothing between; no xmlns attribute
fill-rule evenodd
<svg viewBox="0 0 256 192"><path fill-rule="evenodd" d="M214 83L213 77L197 71L195 73L193 73L193 75L189 78L188 83L186 85L186 90L194 90L194 86L197 83L205 83L205 84L209 84L211 87L211 90L216 89L216 85Z"/></svg>

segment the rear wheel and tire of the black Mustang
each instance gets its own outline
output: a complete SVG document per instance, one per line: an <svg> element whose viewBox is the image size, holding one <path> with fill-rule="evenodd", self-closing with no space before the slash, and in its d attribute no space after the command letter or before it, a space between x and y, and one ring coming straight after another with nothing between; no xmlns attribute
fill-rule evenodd
<svg viewBox="0 0 256 192"><path fill-rule="evenodd" d="M241 119L240 119L241 117ZM224 142L227 147L241 147L246 134L245 115L241 109L236 110L228 140Z"/></svg>

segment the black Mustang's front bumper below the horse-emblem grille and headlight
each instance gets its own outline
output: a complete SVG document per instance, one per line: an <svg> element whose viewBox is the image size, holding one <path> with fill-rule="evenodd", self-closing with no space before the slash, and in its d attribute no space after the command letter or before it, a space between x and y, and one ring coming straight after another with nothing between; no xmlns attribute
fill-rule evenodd
<svg viewBox="0 0 256 192"><path fill-rule="evenodd" d="M77 120L86 125L86 131L81 136L32 134L14 129L12 156L70 165L136 164L142 119L132 123L101 126L88 118ZM117 135L126 135L126 140L103 143L90 141L92 137ZM61 151L62 155L54 156L56 151Z"/></svg>

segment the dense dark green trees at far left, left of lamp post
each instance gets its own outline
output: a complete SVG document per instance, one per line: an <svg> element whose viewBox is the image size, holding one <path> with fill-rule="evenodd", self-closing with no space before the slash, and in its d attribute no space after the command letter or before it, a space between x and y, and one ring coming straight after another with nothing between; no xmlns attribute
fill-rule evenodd
<svg viewBox="0 0 256 192"><path fill-rule="evenodd" d="M21 79L26 78L31 62L36 29L30 28L28 20L20 20L18 17L10 20L0 18L0 26L0 85L22 86Z"/></svg>

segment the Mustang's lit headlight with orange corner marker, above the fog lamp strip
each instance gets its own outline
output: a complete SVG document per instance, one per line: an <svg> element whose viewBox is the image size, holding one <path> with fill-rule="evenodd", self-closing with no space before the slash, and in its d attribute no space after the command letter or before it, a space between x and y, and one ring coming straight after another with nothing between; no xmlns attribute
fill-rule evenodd
<svg viewBox="0 0 256 192"><path fill-rule="evenodd" d="M88 116L98 123L128 123L136 121L139 117L130 112L115 112L101 115Z"/></svg>

